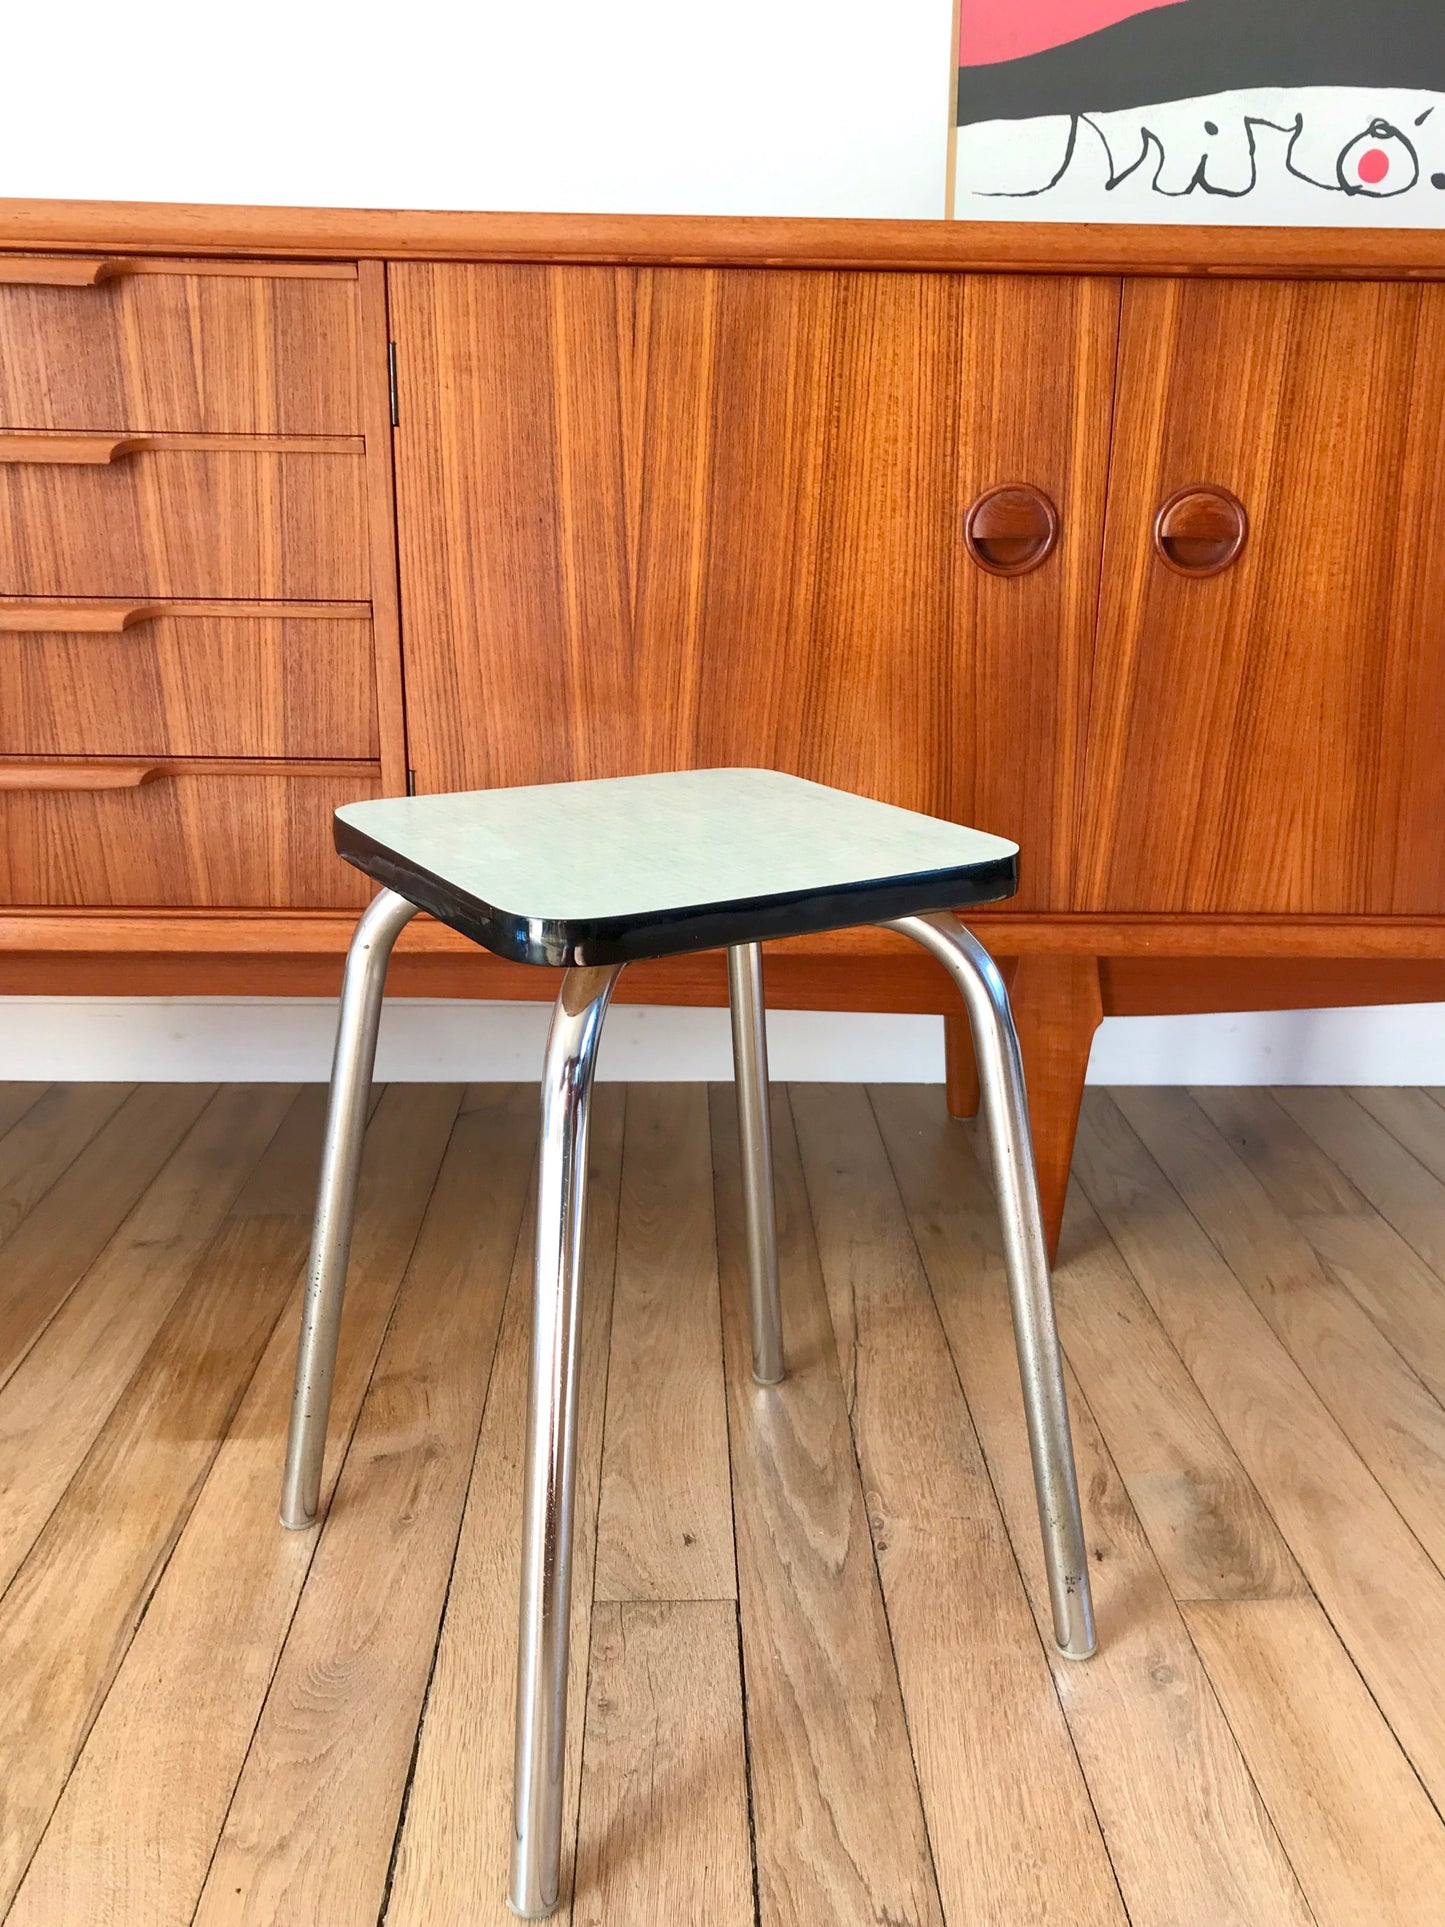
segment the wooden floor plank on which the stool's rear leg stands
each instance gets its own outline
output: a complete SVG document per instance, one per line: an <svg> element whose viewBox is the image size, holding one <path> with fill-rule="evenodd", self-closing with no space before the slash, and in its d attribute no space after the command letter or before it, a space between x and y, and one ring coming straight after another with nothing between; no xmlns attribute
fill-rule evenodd
<svg viewBox="0 0 1445 1927"><path fill-rule="evenodd" d="M792 1110L776 1091L782 1386L751 1378L728 1085L711 1093L711 1125L759 1915L923 1921L936 1904L929 1833ZM959 1790L967 1806L975 1788Z"/></svg>

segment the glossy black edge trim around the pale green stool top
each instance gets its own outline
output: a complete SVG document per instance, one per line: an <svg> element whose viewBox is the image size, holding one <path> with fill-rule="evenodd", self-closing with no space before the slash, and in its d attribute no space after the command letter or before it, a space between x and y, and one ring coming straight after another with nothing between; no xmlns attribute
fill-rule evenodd
<svg viewBox="0 0 1445 1927"><path fill-rule="evenodd" d="M520 917L484 904L416 863L403 863L364 831L335 817L337 854L408 904L430 911L474 944L511 964L559 965L642 964L722 950L728 944L769 942L776 937L817 937L927 910L969 910L998 904L1019 888L1017 856L959 869L931 869L880 883L850 883L832 890L788 890L730 904L690 904L644 917Z"/></svg>

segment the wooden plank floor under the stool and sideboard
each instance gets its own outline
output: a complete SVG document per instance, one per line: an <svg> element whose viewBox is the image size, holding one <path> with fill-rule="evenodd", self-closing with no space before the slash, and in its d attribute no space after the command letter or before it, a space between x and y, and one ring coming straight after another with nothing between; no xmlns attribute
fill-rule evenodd
<svg viewBox="0 0 1445 1927"><path fill-rule="evenodd" d="M503 1923L536 1096L391 1087L276 1522L322 1093L0 1085L0 1919ZM1445 1093L1090 1093L1060 1659L977 1131L597 1093L574 1927L1439 1927Z"/></svg>

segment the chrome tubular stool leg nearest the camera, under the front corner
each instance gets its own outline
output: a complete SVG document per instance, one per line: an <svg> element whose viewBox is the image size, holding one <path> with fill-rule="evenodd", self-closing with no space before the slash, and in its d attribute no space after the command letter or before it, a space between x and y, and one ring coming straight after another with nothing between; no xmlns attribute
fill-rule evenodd
<svg viewBox="0 0 1445 1927"><path fill-rule="evenodd" d="M622 965L568 969L541 1073L538 1264L522 1486L522 1617L516 1642L512 1877L522 1919L557 1906L566 1761L566 1651L588 1108L607 1000Z"/></svg>

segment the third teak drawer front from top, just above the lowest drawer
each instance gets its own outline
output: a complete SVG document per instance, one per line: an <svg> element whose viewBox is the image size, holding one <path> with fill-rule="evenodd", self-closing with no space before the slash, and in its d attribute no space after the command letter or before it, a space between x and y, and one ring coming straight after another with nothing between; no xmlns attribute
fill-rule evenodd
<svg viewBox="0 0 1445 1927"><path fill-rule="evenodd" d="M0 599L0 755L374 759L368 611Z"/></svg>

